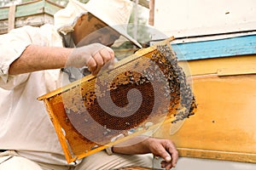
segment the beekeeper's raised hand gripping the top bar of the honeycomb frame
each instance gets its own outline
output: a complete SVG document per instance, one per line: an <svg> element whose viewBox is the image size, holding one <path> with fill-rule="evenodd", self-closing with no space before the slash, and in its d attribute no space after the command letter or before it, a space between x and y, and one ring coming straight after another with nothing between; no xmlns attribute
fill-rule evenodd
<svg viewBox="0 0 256 170"><path fill-rule="evenodd" d="M96 75L103 65L112 67L114 62L113 49L100 43L93 43L84 47L74 48L67 59L67 66L81 68L88 66L92 75Z"/></svg>

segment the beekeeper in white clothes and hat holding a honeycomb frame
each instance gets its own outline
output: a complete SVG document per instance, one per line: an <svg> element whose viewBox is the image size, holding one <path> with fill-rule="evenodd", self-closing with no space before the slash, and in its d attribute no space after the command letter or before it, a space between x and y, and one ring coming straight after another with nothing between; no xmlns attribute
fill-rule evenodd
<svg viewBox="0 0 256 170"><path fill-rule="evenodd" d="M44 102L37 100L76 78L70 66L96 75L102 65L112 65L108 46L120 35L141 47L125 31L131 8L129 0L70 0L55 14L54 26L24 26L0 37L0 170L150 167L152 154L164 158L166 169L176 165L172 141L154 138L67 164Z"/></svg>

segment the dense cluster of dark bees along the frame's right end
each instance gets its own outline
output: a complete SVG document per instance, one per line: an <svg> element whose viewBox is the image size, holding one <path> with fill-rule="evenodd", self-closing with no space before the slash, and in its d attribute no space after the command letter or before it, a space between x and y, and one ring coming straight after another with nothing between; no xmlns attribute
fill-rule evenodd
<svg viewBox="0 0 256 170"><path fill-rule="evenodd" d="M175 109L176 118L172 122L194 115L197 108L195 96L172 48L167 44L157 46L157 52L152 55L152 59L160 66L169 82L171 90L169 111Z"/></svg>

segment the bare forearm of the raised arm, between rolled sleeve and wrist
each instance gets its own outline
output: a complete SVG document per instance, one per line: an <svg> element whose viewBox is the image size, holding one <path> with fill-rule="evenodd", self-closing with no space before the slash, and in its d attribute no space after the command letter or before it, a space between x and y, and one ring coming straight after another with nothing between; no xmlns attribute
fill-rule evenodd
<svg viewBox="0 0 256 170"><path fill-rule="evenodd" d="M63 68L72 48L49 48L29 45L9 67L10 75Z"/></svg>

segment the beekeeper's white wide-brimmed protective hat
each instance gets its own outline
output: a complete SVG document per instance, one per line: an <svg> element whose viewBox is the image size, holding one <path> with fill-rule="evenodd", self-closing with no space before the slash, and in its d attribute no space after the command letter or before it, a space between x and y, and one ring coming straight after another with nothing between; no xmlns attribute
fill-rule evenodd
<svg viewBox="0 0 256 170"><path fill-rule="evenodd" d="M67 7L55 13L55 27L63 34L73 31L78 18L87 12L93 14L99 20L118 31L131 42L142 48L141 44L127 34L126 26L129 22L132 10L130 0L90 0L88 3L80 3L77 0L69 0Z"/></svg>

